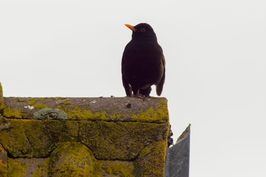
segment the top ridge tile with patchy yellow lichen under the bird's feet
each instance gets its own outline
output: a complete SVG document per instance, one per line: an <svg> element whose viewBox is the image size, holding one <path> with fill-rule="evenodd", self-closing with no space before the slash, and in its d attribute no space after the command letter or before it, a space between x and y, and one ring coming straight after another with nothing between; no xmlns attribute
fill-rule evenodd
<svg viewBox="0 0 266 177"><path fill-rule="evenodd" d="M43 108L59 109L68 120L166 123L166 98L19 98L4 97L6 118L33 119ZM127 104L131 107L128 108Z"/></svg>

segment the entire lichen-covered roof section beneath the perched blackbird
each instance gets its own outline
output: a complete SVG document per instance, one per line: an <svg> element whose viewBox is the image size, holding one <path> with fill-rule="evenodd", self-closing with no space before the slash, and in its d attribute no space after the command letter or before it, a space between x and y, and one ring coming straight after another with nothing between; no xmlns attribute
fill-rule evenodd
<svg viewBox="0 0 266 177"><path fill-rule="evenodd" d="M164 176L165 98L3 97L0 176Z"/></svg>

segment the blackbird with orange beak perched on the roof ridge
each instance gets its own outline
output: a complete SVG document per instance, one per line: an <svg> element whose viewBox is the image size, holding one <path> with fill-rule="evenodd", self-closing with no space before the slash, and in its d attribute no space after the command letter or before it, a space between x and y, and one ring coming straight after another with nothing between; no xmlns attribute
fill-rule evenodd
<svg viewBox="0 0 266 177"><path fill-rule="evenodd" d="M156 34L147 23L136 26L125 24L132 30L132 39L122 57L122 81L127 96L149 97L151 85L156 85L158 96L165 81L165 58Z"/></svg>

